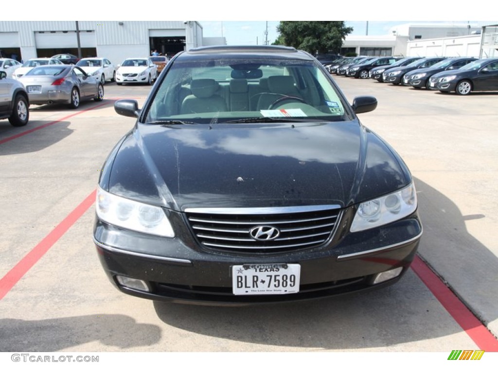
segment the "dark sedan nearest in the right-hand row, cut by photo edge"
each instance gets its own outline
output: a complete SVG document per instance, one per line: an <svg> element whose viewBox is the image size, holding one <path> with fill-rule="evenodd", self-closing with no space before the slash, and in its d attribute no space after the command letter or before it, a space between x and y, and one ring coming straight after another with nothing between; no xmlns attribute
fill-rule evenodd
<svg viewBox="0 0 498 373"><path fill-rule="evenodd" d="M429 80L429 88L461 95L472 91L498 91L498 58L483 58L457 71L435 74Z"/></svg>

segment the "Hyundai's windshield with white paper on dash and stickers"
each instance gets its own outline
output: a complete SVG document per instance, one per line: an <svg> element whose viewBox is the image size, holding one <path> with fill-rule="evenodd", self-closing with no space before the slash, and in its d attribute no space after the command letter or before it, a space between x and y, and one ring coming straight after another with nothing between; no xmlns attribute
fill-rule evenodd
<svg viewBox="0 0 498 373"><path fill-rule="evenodd" d="M223 59L175 62L146 122L329 121L344 120L344 114L330 78L312 61Z"/></svg>

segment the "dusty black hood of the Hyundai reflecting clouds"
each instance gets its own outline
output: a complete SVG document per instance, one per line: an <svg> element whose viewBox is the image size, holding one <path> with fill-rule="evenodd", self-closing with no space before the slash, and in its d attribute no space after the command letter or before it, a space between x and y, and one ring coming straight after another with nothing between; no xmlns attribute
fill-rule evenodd
<svg viewBox="0 0 498 373"><path fill-rule="evenodd" d="M347 206L406 186L399 157L358 122L137 124L101 174L111 193L188 207Z"/></svg>

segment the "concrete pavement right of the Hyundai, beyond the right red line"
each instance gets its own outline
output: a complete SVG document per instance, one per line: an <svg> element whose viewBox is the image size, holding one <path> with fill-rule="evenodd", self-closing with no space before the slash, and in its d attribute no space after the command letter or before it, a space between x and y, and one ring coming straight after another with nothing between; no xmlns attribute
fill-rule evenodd
<svg viewBox="0 0 498 373"><path fill-rule="evenodd" d="M461 97L370 80L336 82L350 96L377 97L377 109L360 118L416 179L420 255L498 336L497 93Z"/></svg>

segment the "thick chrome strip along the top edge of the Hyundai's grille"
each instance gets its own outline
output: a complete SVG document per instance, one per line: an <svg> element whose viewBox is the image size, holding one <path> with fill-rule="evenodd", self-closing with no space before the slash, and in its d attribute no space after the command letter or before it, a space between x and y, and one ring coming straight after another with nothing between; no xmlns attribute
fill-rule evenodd
<svg viewBox="0 0 498 373"><path fill-rule="evenodd" d="M288 214L293 212L313 212L322 210L333 210L342 208L338 204L316 205L316 206L292 206L292 207L247 207L247 208L225 208L225 207L199 207L186 208L187 213L204 213L204 214Z"/></svg>

